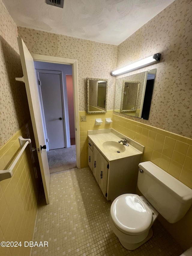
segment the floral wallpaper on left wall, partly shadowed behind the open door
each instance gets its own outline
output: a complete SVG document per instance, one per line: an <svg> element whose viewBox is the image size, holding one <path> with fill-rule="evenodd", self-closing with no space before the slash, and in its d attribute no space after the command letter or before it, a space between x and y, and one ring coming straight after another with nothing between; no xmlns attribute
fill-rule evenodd
<svg viewBox="0 0 192 256"><path fill-rule="evenodd" d="M22 77L16 25L0 0L0 147L30 118Z"/></svg>

